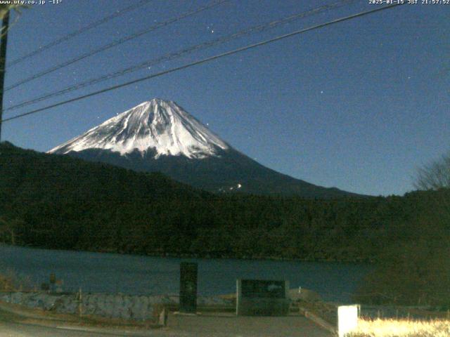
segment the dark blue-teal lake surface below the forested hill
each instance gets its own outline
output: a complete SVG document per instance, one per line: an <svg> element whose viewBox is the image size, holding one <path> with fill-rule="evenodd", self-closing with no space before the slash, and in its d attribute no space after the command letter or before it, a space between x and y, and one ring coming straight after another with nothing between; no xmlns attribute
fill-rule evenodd
<svg viewBox="0 0 450 337"><path fill-rule="evenodd" d="M91 292L176 294L179 263L198 263L198 293L236 291L236 279L287 279L290 288L317 291L326 300L349 302L350 294L369 272L361 263L315 263L274 260L159 258L115 253L53 251L0 244L0 272L13 270L36 284L54 272L63 289Z"/></svg>

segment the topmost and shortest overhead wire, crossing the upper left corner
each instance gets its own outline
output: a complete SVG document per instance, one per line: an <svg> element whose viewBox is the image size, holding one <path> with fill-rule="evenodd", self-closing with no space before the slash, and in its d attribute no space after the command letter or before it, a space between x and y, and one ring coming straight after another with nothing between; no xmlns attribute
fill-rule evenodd
<svg viewBox="0 0 450 337"><path fill-rule="evenodd" d="M94 29L95 27L98 27L99 25L103 25L103 23L113 20L115 18L118 18L120 15L124 15L125 13L128 13L130 11L134 11L136 8L139 8L145 4L148 4L150 1L153 1L153 0L141 0L137 4L132 4L131 6L128 6L121 10L118 10L111 15L105 16L105 18L101 18L100 20L91 22L89 25L86 25L85 27L77 29L74 32L71 32L70 34L65 35L64 37L61 37L60 39L53 40L49 44L46 44L45 46L41 46L41 47L37 48L36 50L21 56L20 58L16 58L15 60L8 62L6 64L6 66L12 67L13 65L17 65L18 63L23 62L24 60L27 60L27 58L31 58L32 56L42 53L43 51L46 51L49 48L52 48L54 46L57 46L58 44L61 44L65 41L68 41L68 40L74 38L74 37L77 37L77 35L87 32L90 29Z"/></svg>

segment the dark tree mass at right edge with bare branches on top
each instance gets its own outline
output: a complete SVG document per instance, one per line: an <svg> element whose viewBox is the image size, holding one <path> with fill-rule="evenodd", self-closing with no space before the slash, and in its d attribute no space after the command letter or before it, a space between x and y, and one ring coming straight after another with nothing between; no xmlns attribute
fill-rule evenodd
<svg viewBox="0 0 450 337"><path fill-rule="evenodd" d="M391 232L396 241L384 249L356 300L450 307L450 152L420 167L414 186L423 190L410 195L416 213Z"/></svg>

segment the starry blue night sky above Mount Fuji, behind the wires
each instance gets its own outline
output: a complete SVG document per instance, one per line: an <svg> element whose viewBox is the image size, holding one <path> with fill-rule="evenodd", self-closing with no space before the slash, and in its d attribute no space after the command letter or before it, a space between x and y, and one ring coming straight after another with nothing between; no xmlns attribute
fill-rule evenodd
<svg viewBox="0 0 450 337"><path fill-rule="evenodd" d="M48 2L23 10L12 25L8 61L137 1ZM208 2L150 1L8 67L6 86ZM333 2L230 0L7 91L4 107ZM4 118L375 6L356 1ZM47 151L145 100L163 98L281 173L351 192L404 194L413 189L416 168L450 148L449 19L450 4L399 6L6 122L2 140Z"/></svg>

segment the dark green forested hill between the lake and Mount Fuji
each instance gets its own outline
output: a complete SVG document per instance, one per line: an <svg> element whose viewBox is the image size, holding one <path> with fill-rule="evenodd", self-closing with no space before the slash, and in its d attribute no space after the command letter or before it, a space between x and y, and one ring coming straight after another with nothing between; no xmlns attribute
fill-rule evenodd
<svg viewBox="0 0 450 337"><path fill-rule="evenodd" d="M400 229L420 213L420 195L210 194L159 173L0 144L0 239L47 248L373 260L407 235Z"/></svg>

